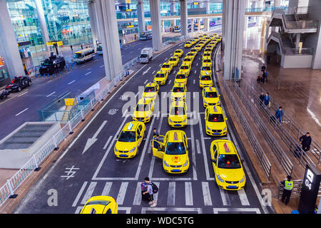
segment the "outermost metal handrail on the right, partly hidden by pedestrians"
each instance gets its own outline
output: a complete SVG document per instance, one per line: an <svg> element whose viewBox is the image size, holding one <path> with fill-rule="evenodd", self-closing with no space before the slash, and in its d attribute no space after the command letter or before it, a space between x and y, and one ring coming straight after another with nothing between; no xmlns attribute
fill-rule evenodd
<svg viewBox="0 0 321 228"><path fill-rule="evenodd" d="M261 93L266 93L266 91L258 85L258 83L255 80L251 81L251 88L253 88L253 91L259 96ZM271 102L271 108L272 110L277 110L281 105L276 102L275 99L273 99L270 96L270 102ZM295 137L297 140L300 138L301 134L307 133L308 131L302 128L301 125L299 125L295 120L292 119L289 113L287 113L286 108L283 109L284 113L282 116L282 126L285 127L293 137ZM321 147L320 145L313 140L310 145L311 149L310 152L312 155L317 159L317 164L320 165L321 160Z"/></svg>

